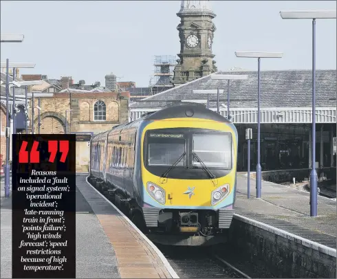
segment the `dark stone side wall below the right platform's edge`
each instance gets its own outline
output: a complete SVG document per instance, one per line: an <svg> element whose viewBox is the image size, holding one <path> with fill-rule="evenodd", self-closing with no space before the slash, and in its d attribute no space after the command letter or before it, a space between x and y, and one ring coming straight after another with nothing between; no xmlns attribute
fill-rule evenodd
<svg viewBox="0 0 337 279"><path fill-rule="evenodd" d="M336 250L314 247L234 216L230 243L253 263L264 263L278 278L336 278Z"/></svg>

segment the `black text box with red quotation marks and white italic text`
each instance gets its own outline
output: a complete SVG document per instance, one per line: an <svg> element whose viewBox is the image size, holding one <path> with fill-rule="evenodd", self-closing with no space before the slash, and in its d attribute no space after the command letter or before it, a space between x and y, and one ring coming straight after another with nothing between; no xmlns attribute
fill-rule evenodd
<svg viewBox="0 0 337 279"><path fill-rule="evenodd" d="M76 278L76 135L13 135L12 278Z"/></svg>

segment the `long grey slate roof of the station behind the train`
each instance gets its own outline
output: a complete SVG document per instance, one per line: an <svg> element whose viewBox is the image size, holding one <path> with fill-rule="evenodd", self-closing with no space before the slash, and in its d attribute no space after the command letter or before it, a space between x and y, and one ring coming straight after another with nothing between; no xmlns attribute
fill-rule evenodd
<svg viewBox="0 0 337 279"><path fill-rule="evenodd" d="M230 81L230 107L257 107L257 71L218 71L215 74L248 75L248 80ZM165 107L178 100L206 100L206 94L193 90L224 89L220 100L227 100L227 80L211 80L210 75L168 89L130 104L131 109ZM311 107L312 71L261 71L261 107ZM215 100L217 96L210 96ZM225 102L226 103L226 102ZM216 102L210 102L216 107ZM336 70L316 70L316 107L336 107Z"/></svg>

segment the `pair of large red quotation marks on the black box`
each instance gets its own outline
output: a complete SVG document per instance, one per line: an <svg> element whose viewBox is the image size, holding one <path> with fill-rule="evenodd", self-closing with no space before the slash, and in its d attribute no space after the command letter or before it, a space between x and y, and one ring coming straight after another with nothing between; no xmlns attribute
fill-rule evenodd
<svg viewBox="0 0 337 279"><path fill-rule="evenodd" d="M48 140L48 152L50 153L49 161L54 163L56 154L59 151L62 153L60 161L65 162L69 152L69 141L60 140L60 148L58 150L58 141L57 140ZM39 147L39 142L34 140L32 149L30 152L27 150L28 142L23 141L19 151L19 163L28 163L28 157L30 153L30 163L39 163L40 162L40 152L37 150Z"/></svg>

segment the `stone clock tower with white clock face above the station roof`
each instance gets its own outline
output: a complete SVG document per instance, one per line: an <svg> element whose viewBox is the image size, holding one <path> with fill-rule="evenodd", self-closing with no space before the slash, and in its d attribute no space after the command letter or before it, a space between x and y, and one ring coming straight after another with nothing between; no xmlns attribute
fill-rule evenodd
<svg viewBox="0 0 337 279"><path fill-rule="evenodd" d="M177 16L181 19L177 26L180 59L177 60L171 80L174 86L217 71L213 60L215 55L212 53L215 13L210 7L210 1L182 0Z"/></svg>

